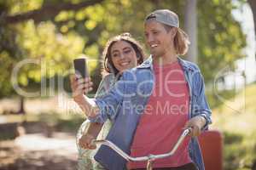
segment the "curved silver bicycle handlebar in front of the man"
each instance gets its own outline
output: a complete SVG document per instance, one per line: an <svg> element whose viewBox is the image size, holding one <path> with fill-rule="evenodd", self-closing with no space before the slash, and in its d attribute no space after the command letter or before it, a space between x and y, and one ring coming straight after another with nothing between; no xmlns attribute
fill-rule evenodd
<svg viewBox="0 0 256 170"><path fill-rule="evenodd" d="M177 143L173 146L172 150L160 155L149 154L148 156L140 156L140 157L132 157L127 155L123 150L119 149L119 147L113 144L111 141L102 139L102 140L93 140L95 144L104 144L110 147L112 150L117 152L119 156L122 156L126 161L148 161L147 170L152 170L153 161L156 159L166 158L168 156L172 156L177 150L178 146L183 142L183 139L191 132L191 127L183 130L183 133L177 139Z"/></svg>

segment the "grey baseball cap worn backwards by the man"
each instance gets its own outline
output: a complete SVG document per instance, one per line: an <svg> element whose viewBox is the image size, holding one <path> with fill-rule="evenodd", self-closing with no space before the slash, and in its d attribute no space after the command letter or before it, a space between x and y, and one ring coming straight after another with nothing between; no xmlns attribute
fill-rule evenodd
<svg viewBox="0 0 256 170"><path fill-rule="evenodd" d="M179 26L177 14L169 9L155 10L153 13L148 14L145 21L153 19L167 26L174 26L177 28Z"/></svg>

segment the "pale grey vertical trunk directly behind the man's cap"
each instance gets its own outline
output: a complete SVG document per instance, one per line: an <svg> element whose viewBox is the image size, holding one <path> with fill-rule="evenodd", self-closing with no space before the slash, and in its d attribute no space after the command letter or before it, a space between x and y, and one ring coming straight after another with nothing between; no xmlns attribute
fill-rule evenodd
<svg viewBox="0 0 256 170"><path fill-rule="evenodd" d="M186 0L185 5L185 31L189 35L190 45L187 59L192 62L197 62L197 14L196 0Z"/></svg>

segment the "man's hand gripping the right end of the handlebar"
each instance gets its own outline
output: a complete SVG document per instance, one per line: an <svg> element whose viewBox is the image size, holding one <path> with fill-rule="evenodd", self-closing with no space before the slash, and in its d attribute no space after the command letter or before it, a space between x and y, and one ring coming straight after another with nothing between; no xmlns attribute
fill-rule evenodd
<svg viewBox="0 0 256 170"><path fill-rule="evenodd" d="M192 129L189 135L196 137L201 134L201 128L204 127L206 123L207 121L203 116L195 116L186 122L185 128L191 127Z"/></svg>

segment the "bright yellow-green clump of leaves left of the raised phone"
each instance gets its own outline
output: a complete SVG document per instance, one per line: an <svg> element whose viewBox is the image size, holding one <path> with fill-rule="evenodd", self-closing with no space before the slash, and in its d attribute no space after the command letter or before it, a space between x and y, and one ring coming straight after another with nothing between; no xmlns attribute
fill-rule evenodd
<svg viewBox="0 0 256 170"><path fill-rule="evenodd" d="M46 66L43 75L40 75L42 71L38 68L27 69L25 72L34 73L28 74L32 76L30 78L39 81L37 76L62 74L71 66L72 59L82 53L84 41L75 32L63 36L55 31L55 25L51 22L35 26L32 21L28 21L24 25L20 26L20 46L29 58L39 59L39 66Z"/></svg>

